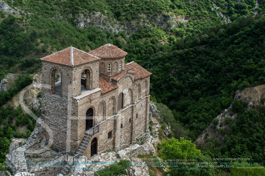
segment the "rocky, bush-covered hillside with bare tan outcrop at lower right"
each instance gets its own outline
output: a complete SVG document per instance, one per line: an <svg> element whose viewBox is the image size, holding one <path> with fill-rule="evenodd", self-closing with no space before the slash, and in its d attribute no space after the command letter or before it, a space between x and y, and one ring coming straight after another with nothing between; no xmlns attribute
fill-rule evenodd
<svg viewBox="0 0 265 176"><path fill-rule="evenodd" d="M196 140L199 148L212 158L264 158L265 85L237 90L234 102L213 119Z"/></svg>

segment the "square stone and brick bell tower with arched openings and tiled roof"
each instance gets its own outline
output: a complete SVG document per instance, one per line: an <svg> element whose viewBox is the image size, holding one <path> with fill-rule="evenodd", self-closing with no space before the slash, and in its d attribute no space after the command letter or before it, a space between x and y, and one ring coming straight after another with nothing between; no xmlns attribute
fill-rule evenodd
<svg viewBox="0 0 265 176"><path fill-rule="evenodd" d="M53 136L53 147L61 151L75 152L80 143L80 121L77 100L82 90L99 87L98 62L92 56L72 46L55 52L42 60L42 109L45 124L50 128L45 132L46 140ZM85 73L84 84L82 73Z"/></svg>

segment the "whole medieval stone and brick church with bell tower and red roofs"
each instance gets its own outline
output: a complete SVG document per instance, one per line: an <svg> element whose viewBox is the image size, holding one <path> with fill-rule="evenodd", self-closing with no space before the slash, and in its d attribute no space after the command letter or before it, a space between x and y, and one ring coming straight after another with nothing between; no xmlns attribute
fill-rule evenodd
<svg viewBox="0 0 265 176"><path fill-rule="evenodd" d="M122 149L148 130L151 73L105 44L42 60L42 109L53 147L80 156ZM59 73L59 74L58 74Z"/></svg>

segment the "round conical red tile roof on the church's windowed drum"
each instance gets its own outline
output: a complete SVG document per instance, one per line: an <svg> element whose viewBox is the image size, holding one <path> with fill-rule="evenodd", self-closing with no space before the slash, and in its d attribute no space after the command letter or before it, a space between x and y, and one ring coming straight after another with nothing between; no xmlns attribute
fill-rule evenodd
<svg viewBox="0 0 265 176"><path fill-rule="evenodd" d="M89 54L92 54L94 56L97 56L99 58L103 59L109 59L109 58L123 58L127 55L127 52L121 50L120 48L108 43L105 44L95 50L92 50L88 52Z"/></svg>

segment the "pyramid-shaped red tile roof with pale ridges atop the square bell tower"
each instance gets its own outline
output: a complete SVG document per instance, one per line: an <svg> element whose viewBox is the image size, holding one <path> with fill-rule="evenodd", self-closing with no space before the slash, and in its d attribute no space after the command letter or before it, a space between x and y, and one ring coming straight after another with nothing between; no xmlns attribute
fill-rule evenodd
<svg viewBox="0 0 265 176"><path fill-rule="evenodd" d="M77 65L99 60L100 58L70 46L40 59L42 61L74 67Z"/></svg>

